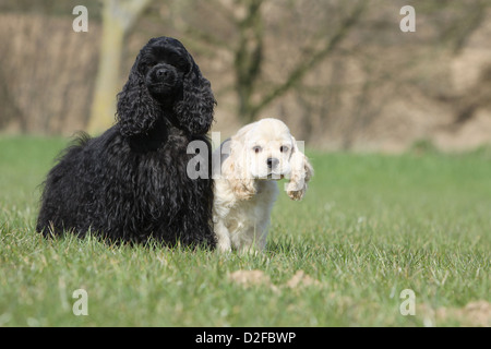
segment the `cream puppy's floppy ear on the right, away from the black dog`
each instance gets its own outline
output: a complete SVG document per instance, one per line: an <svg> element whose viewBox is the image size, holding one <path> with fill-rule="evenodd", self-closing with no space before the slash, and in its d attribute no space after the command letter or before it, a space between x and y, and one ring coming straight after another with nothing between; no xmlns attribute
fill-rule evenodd
<svg viewBox="0 0 491 349"><path fill-rule="evenodd" d="M313 176L313 167L309 163L307 156L298 148L297 141L291 136L294 147L290 157L290 176L289 182L285 185L285 190L291 200L300 201L307 192L308 182Z"/></svg>

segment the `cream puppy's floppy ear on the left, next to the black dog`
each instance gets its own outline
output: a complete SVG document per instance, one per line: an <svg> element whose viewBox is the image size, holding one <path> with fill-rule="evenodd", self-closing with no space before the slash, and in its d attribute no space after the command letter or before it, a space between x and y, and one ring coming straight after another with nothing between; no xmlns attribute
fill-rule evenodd
<svg viewBox="0 0 491 349"><path fill-rule="evenodd" d="M229 155L221 163L221 178L226 179L238 200L249 200L256 193L255 181L247 171L249 166L246 144L235 135L228 141Z"/></svg>

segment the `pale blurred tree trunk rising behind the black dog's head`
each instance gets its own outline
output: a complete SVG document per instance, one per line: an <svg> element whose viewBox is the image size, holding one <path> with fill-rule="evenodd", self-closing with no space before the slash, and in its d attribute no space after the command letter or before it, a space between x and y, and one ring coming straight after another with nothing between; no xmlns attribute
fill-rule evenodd
<svg viewBox="0 0 491 349"><path fill-rule="evenodd" d="M100 133L115 121L123 40L152 0L105 0L103 38L88 132Z"/></svg>

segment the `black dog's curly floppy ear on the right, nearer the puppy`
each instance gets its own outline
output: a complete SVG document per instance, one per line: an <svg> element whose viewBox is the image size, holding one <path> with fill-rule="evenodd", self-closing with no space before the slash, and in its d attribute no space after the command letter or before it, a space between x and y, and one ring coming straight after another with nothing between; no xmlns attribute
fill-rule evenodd
<svg viewBox="0 0 491 349"><path fill-rule="evenodd" d="M209 81L201 74L189 53L188 60L191 69L183 77L183 98L175 105L173 110L181 128L192 134L205 134L212 127L216 100Z"/></svg>

